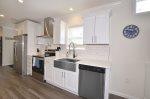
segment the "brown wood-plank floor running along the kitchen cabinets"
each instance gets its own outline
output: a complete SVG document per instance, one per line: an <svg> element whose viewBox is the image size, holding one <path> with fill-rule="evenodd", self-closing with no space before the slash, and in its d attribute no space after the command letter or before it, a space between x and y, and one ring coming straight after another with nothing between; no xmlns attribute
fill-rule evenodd
<svg viewBox="0 0 150 99"><path fill-rule="evenodd" d="M18 75L13 68L0 67L0 99L83 99L30 76ZM111 96L110 99L124 99Z"/></svg>

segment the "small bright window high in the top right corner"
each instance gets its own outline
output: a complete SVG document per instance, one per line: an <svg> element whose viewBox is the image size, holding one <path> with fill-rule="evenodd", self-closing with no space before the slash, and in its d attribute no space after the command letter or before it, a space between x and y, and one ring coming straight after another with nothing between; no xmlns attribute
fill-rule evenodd
<svg viewBox="0 0 150 99"><path fill-rule="evenodd" d="M136 13L150 11L150 0L136 0Z"/></svg>

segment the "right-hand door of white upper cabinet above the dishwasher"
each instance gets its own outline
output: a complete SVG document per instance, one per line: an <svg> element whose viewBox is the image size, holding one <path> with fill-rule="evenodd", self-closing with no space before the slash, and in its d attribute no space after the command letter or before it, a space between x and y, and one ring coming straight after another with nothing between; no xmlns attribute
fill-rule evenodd
<svg viewBox="0 0 150 99"><path fill-rule="evenodd" d="M94 44L109 44L109 15L96 16Z"/></svg>

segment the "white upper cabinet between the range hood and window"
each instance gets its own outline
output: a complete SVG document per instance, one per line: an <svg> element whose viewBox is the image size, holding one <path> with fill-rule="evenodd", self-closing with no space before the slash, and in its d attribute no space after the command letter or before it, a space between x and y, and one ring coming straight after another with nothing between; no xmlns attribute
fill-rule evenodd
<svg viewBox="0 0 150 99"><path fill-rule="evenodd" d="M53 44L65 44L67 25L60 19L54 19Z"/></svg>

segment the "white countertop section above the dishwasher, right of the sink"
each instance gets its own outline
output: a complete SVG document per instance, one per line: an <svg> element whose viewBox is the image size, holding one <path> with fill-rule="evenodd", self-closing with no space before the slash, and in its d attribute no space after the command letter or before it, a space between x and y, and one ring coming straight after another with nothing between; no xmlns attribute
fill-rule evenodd
<svg viewBox="0 0 150 99"><path fill-rule="evenodd" d="M101 60L80 60L78 64L91 65L95 67L110 68L110 62Z"/></svg>

